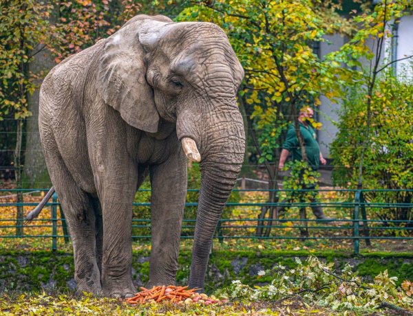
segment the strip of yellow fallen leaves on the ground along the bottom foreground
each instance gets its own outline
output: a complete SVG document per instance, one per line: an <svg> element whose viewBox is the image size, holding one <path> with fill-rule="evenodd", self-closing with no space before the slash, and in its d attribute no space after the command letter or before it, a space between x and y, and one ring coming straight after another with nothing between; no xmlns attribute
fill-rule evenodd
<svg viewBox="0 0 413 316"><path fill-rule="evenodd" d="M131 306L115 299L90 295L6 293L0 296L1 315L395 315L394 310L372 312L337 312L317 304L304 304L299 298L272 302L237 302L224 305L145 304ZM407 315L407 314L406 314Z"/></svg>

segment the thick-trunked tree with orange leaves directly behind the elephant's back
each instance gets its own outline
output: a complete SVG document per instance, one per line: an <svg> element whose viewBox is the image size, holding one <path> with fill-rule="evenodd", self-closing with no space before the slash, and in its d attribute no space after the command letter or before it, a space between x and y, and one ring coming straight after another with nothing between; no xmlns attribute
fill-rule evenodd
<svg viewBox="0 0 413 316"><path fill-rule="evenodd" d="M40 2L37 0L37 2ZM134 1L83 1L61 2L50 5L46 16L49 27L45 30L45 43L37 43L29 71L36 76L36 89L28 95L28 105L33 113L26 126L24 185L44 188L50 183L39 137L39 90L47 72L63 58L94 45L100 38L112 34L127 19L140 10Z"/></svg>

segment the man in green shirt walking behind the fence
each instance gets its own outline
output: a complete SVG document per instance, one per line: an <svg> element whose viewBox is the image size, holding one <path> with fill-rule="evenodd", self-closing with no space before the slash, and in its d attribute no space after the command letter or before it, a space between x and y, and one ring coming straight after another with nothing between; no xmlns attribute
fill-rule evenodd
<svg viewBox="0 0 413 316"><path fill-rule="evenodd" d="M324 159L323 155L321 154L315 130L310 124L310 121L313 119L313 115L313 109L311 109L310 107L304 107L299 112L298 121L299 131L301 132L301 135L304 140L304 146L306 147L308 165L310 166L310 168L317 171L319 169L320 163L322 165L326 164L326 159ZM301 148L299 147L299 142L293 124L289 126L286 140L282 146L278 170L282 170L284 168L284 163L286 162L286 159L290 154L292 156L293 161L302 160ZM315 190L315 184L306 185L306 189ZM316 194L317 192L315 191L312 194L313 198L310 200L312 203L318 202L315 199ZM334 218L330 218L324 214L323 208L320 205L315 204L311 206L311 209L313 210L313 214L315 215L315 217L319 220L323 220L325 223L334 220ZM284 210L284 207L279 207L279 211L282 210Z"/></svg>

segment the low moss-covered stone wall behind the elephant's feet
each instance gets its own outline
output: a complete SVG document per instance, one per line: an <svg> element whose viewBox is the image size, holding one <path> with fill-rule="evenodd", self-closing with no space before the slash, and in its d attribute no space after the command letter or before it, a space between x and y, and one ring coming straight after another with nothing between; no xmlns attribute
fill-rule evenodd
<svg viewBox="0 0 413 316"><path fill-rule="evenodd" d="M134 251L133 278L136 286L149 278L149 251ZM266 277L257 278L260 270L271 269L275 264L295 267L295 257L305 259L315 255L326 262L335 262L341 269L346 262L352 264L359 275L373 278L385 269L390 276L413 280L412 253L366 253L351 256L340 251L309 253L308 251L214 251L209 260L206 290L215 290L242 280L245 284L262 284ZM187 284L191 252L181 251L178 284ZM37 291L39 289L71 289L74 281L72 253L65 251L3 251L0 253L0 291Z"/></svg>

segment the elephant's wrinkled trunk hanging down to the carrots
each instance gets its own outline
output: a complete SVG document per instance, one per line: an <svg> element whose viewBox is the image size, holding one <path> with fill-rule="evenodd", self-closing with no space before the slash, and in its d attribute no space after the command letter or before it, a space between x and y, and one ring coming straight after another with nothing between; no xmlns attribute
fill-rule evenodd
<svg viewBox="0 0 413 316"><path fill-rule="evenodd" d="M189 286L201 291L213 234L244 158L244 128L242 121L238 120L242 120L242 117L238 111L232 115L236 115L233 123L218 124L218 128L211 128L214 132L209 135L206 148L201 150L201 190L189 278ZM217 129L220 129L218 133Z"/></svg>

